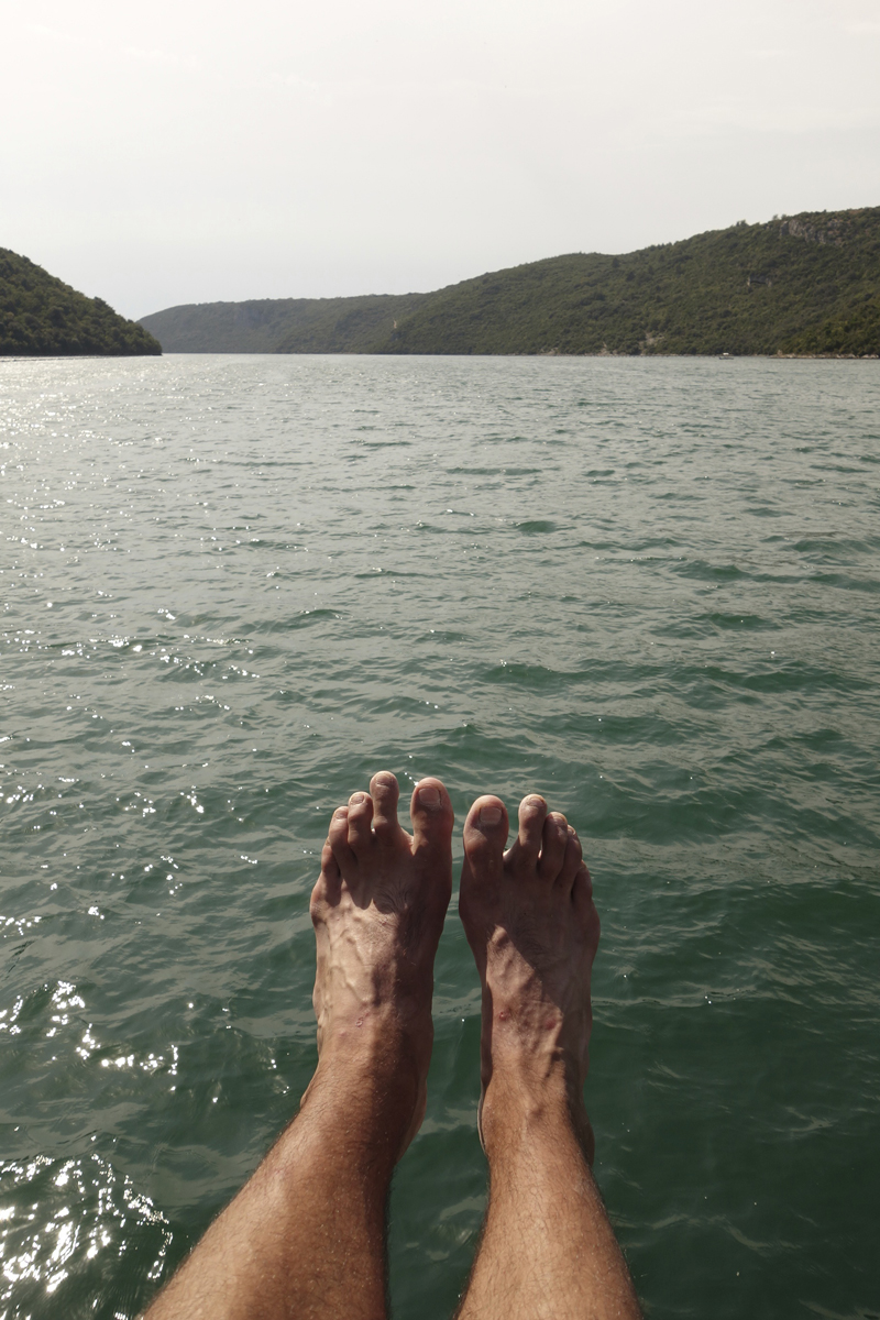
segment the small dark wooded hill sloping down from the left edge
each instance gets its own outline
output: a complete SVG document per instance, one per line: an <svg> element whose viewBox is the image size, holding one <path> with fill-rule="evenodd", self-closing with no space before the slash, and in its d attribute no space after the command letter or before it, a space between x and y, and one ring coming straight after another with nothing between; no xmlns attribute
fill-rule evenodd
<svg viewBox="0 0 880 1320"><path fill-rule="evenodd" d="M26 256L0 248L0 358L160 354L136 321L87 298Z"/></svg>

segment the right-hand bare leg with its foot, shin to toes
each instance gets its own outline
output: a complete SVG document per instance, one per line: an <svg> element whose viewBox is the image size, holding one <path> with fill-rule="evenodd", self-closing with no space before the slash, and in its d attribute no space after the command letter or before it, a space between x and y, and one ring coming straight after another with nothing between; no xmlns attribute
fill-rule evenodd
<svg viewBox="0 0 880 1320"><path fill-rule="evenodd" d="M599 942L590 874L565 816L497 797L464 825L459 911L483 985L480 1139L489 1205L460 1320L637 1320L592 1179L583 1107Z"/></svg>

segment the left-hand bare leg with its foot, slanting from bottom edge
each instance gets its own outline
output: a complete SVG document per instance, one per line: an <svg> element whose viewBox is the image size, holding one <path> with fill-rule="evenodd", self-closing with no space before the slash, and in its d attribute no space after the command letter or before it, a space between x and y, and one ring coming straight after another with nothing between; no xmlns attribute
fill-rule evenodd
<svg viewBox="0 0 880 1320"><path fill-rule="evenodd" d="M299 1114L145 1320L385 1315L385 1203L425 1115L453 808L422 780L410 837L394 776L369 788L334 813L311 895L319 1057Z"/></svg>

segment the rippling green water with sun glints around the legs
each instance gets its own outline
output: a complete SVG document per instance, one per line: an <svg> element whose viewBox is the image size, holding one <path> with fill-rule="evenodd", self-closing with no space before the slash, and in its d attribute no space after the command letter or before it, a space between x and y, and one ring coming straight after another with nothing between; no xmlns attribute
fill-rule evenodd
<svg viewBox="0 0 880 1320"><path fill-rule="evenodd" d="M596 1173L652 1316L880 1313L876 363L0 366L0 1316L132 1317L314 1067L381 767L544 792L603 940ZM400 1317L486 1193L455 900Z"/></svg>

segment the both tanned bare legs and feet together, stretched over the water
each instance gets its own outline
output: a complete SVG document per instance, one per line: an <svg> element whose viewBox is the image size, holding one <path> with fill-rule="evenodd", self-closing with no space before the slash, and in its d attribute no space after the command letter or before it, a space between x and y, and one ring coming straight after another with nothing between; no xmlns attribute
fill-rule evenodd
<svg viewBox="0 0 880 1320"><path fill-rule="evenodd" d="M299 1113L144 1320L385 1320L385 1206L425 1115L453 808L438 779L397 821L394 776L334 812L311 895L318 1068ZM479 799L460 912L483 983L480 1133L491 1195L464 1320L640 1315L588 1162L582 1089L590 876L565 817Z"/></svg>

